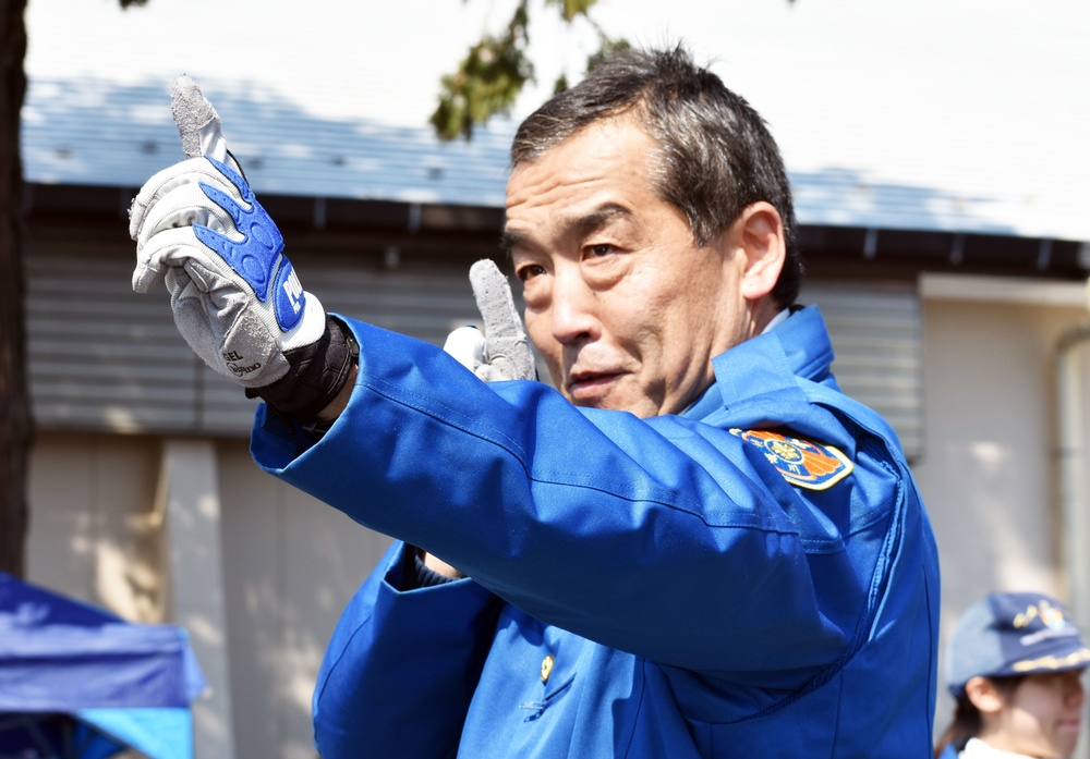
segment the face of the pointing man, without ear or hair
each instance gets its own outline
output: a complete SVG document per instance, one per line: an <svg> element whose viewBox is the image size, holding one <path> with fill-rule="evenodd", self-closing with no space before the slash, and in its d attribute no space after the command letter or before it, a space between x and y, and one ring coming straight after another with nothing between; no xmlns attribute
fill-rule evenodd
<svg viewBox="0 0 1090 759"><path fill-rule="evenodd" d="M631 118L596 122L518 166L505 240L526 331L579 406L678 413L711 358L753 332L732 227L705 247L652 182L655 143Z"/></svg>

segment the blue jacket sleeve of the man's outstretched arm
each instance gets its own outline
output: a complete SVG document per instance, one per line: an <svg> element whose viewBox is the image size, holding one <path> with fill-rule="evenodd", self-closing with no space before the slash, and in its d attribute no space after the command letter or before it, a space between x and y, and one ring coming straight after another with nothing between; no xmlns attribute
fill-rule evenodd
<svg viewBox="0 0 1090 759"><path fill-rule="evenodd" d="M538 620L664 664L798 687L858 639L904 501L885 462L858 455L818 507L727 429L485 384L435 346L349 323L348 408L306 450L259 418L268 472Z"/></svg>

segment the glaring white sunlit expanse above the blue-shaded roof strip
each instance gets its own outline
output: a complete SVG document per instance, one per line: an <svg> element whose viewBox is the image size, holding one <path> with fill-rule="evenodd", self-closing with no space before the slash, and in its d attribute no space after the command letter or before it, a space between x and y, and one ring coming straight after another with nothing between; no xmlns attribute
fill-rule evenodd
<svg viewBox="0 0 1090 759"><path fill-rule="evenodd" d="M32 75L270 84L306 110L426 123L440 74L513 0L29 0ZM305 10L303 10L305 9ZM593 36L533 7L544 87ZM792 171L966 193L1090 216L1085 0L600 0L630 41L683 39L770 122ZM1090 238L1090 221L1076 222Z"/></svg>

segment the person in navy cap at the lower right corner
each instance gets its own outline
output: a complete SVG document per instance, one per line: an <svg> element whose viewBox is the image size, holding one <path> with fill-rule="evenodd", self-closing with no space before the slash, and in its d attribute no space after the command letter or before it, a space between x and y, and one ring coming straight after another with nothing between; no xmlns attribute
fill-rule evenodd
<svg viewBox="0 0 1090 759"><path fill-rule="evenodd" d="M1075 749L1090 663L1067 608L993 592L961 615L946 659L957 699L936 759L1062 759Z"/></svg>

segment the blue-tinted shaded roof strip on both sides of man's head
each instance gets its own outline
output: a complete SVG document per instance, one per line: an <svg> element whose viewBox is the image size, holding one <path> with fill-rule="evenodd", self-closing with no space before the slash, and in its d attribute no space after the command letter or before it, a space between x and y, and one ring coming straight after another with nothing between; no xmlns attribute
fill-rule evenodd
<svg viewBox="0 0 1090 759"><path fill-rule="evenodd" d="M255 83L201 84L259 195L502 207L511 121L494 122L469 143L445 144L428 126L314 115ZM31 182L133 188L183 158L160 82L93 77L31 79L22 155ZM1061 238L1070 233L1028 224L1027 209L1001 193L875 182L850 169L790 176L799 220L807 224Z"/></svg>

